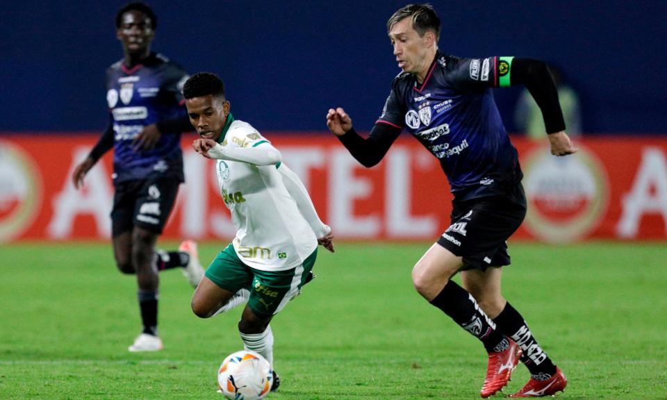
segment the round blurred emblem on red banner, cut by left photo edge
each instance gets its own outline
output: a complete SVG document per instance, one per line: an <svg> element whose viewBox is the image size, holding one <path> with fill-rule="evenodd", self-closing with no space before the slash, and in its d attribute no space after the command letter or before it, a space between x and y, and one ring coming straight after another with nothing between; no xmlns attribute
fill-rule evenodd
<svg viewBox="0 0 667 400"><path fill-rule="evenodd" d="M28 153L0 140L0 242L23 233L38 214L42 184Z"/></svg>

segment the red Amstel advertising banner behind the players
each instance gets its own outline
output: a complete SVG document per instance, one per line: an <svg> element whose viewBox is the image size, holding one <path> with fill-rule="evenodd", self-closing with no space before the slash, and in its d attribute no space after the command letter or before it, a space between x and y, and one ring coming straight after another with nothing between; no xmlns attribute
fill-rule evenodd
<svg viewBox="0 0 667 400"><path fill-rule="evenodd" d="M437 160L405 135L366 169L329 135L267 133L304 182L338 240L436 240L449 225L449 185ZM183 139L186 183L163 237L231 240L213 161ZM0 136L0 242L110 235L112 156L72 185L97 135ZM529 201L513 238L546 242L667 239L667 138L578 139L554 157L547 140L513 138Z"/></svg>

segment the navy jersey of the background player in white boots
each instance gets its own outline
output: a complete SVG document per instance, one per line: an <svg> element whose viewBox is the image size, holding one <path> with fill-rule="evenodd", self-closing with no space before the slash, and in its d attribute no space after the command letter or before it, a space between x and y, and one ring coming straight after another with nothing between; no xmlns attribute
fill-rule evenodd
<svg viewBox="0 0 667 400"><path fill-rule="evenodd" d="M183 182L181 132L164 132L156 146L135 151L133 139L144 126L187 115L181 89L188 74L160 54L128 69L122 60L106 71L106 100L113 125L114 183L148 178Z"/></svg>

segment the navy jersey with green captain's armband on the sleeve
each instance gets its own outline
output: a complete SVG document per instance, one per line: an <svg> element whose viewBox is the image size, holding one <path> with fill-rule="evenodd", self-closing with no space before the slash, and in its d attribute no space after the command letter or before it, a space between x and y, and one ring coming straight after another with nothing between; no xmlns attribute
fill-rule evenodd
<svg viewBox="0 0 667 400"><path fill-rule="evenodd" d="M511 58L443 53L421 85L401 73L376 124L406 128L440 161L457 199L506 194L521 181L491 88L509 86Z"/></svg>

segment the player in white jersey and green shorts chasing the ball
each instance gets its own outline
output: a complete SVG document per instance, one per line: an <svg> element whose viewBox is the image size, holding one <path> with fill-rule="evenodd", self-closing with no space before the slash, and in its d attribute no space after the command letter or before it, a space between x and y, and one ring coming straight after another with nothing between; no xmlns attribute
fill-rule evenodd
<svg viewBox="0 0 667 400"><path fill-rule="evenodd" d="M200 137L192 147L217 160L220 194L236 228L236 238L206 269L192 311L208 318L247 300L238 322L241 339L245 349L273 365L269 322L312 278L318 244L334 251L331 228L280 152L250 124L232 117L217 75L193 75L183 96ZM272 390L278 385L274 372Z"/></svg>

